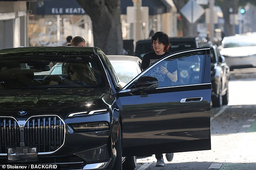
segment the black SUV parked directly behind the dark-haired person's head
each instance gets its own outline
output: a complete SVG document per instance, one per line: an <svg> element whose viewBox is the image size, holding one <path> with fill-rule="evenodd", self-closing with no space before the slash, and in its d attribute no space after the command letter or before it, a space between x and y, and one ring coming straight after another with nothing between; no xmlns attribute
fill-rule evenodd
<svg viewBox="0 0 256 170"><path fill-rule="evenodd" d="M171 37L169 39L170 49L168 51L171 53L202 46L201 39L199 37ZM139 40L136 42L135 56L142 59L144 54L150 51L153 51L151 39Z"/></svg>

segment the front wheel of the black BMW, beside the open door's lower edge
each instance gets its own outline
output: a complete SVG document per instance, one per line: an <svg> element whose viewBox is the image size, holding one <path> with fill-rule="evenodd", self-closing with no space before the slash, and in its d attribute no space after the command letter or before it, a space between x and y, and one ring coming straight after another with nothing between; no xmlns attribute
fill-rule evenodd
<svg viewBox="0 0 256 170"><path fill-rule="evenodd" d="M116 158L112 170L122 170L122 137L121 126L118 124L118 140L115 142Z"/></svg>

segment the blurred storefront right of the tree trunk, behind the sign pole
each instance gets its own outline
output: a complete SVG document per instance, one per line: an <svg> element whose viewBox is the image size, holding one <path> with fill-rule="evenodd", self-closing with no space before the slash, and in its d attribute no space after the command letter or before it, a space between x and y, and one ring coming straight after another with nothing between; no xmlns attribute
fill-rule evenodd
<svg viewBox="0 0 256 170"><path fill-rule="evenodd" d="M127 18L127 7L134 6L132 0L121 0L121 22L123 39L133 39L132 27L134 23ZM148 14L144 15L141 23L141 39L150 38L150 32L164 31L170 37L177 34L177 10L172 0L141 0L141 7L148 7ZM135 21L137 22L137 21Z"/></svg>

